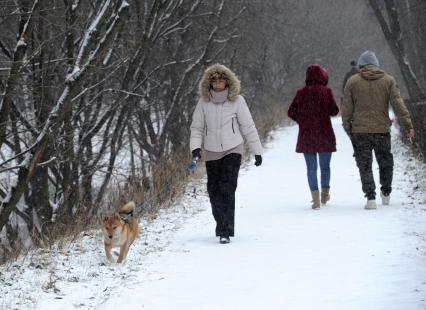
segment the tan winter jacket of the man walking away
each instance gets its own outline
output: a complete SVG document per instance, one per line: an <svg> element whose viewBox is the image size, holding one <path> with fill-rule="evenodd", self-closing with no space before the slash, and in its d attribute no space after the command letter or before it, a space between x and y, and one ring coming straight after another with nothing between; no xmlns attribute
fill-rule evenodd
<svg viewBox="0 0 426 310"><path fill-rule="evenodd" d="M395 79L368 65L347 82L341 107L343 127L350 133L390 131L389 104L405 129L413 128Z"/></svg>

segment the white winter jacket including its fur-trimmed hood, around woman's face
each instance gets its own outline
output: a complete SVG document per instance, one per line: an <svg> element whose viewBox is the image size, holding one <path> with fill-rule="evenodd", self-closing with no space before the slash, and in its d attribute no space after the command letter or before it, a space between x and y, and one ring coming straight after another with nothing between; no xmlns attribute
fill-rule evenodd
<svg viewBox="0 0 426 310"><path fill-rule="evenodd" d="M223 103L210 100L210 80L216 75L225 76L228 99ZM251 151L263 153L259 135L247 103L240 95L240 81L227 67L215 64L204 72L199 87L200 99L192 116L191 151L204 148L211 152L224 152L247 140Z"/></svg>

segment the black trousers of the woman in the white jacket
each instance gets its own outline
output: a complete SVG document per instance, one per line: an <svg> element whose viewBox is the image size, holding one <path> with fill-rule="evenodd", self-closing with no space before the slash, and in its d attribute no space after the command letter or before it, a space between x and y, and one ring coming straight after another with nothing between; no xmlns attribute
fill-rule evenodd
<svg viewBox="0 0 426 310"><path fill-rule="evenodd" d="M241 155L234 153L206 161L207 191L219 237L234 236L235 191L240 165Z"/></svg>

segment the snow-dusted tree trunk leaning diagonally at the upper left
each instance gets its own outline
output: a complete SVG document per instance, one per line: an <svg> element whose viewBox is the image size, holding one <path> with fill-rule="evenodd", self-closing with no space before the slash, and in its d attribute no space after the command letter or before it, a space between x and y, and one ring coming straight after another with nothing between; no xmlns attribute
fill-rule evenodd
<svg viewBox="0 0 426 310"><path fill-rule="evenodd" d="M113 7L116 7L116 9ZM77 56L65 79L65 87L62 93L49 111L37 138L29 148L23 151L25 158L17 167L16 184L12 184L8 189L7 199L2 200L0 205L0 231L7 224L12 211L15 210L16 204L36 171L37 165L45 155L49 143L59 137L60 128L66 112L69 110L68 107L72 103L72 98L78 93L84 80L102 59L101 55L106 52L127 13L128 4L125 1L118 1L118 3L105 1L98 7L92 22L82 36ZM108 25L106 25L107 21L109 21ZM100 33L102 28L104 28L104 32Z"/></svg>

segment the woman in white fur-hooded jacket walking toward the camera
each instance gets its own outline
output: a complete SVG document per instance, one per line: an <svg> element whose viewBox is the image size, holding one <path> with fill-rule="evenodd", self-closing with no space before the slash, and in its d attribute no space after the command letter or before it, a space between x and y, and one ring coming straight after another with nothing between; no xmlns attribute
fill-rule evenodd
<svg viewBox="0 0 426 310"><path fill-rule="evenodd" d="M208 67L199 86L200 99L195 108L190 148L201 157L204 146L207 191L216 221L220 243L234 236L235 190L243 153L243 137L255 154L255 165L262 164L262 145L244 98L240 81L221 64Z"/></svg>

